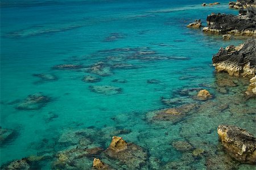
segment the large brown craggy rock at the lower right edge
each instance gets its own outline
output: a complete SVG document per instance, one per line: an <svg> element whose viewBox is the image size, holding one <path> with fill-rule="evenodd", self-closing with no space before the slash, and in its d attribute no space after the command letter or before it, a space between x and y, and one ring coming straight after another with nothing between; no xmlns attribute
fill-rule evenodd
<svg viewBox="0 0 256 170"><path fill-rule="evenodd" d="M237 126L219 125L219 140L229 155L242 163L255 164L256 138Z"/></svg>

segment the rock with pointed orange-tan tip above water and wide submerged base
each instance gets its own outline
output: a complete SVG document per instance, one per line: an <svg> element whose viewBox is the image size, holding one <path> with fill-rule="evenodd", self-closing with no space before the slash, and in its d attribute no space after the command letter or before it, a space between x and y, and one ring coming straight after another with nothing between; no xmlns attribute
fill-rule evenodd
<svg viewBox="0 0 256 170"><path fill-rule="evenodd" d="M140 169L147 161L147 152L133 143L126 143L121 137L113 137L105 153L109 158L125 164L128 169Z"/></svg>

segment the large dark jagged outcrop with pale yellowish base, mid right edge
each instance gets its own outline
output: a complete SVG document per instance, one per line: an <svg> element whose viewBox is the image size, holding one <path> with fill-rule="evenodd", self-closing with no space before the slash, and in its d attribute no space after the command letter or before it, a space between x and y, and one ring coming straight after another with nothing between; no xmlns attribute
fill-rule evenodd
<svg viewBox="0 0 256 170"><path fill-rule="evenodd" d="M217 72L227 72L231 76L252 78L256 72L256 39L248 39L239 46L220 48L212 58Z"/></svg>

